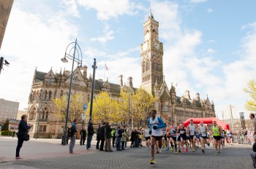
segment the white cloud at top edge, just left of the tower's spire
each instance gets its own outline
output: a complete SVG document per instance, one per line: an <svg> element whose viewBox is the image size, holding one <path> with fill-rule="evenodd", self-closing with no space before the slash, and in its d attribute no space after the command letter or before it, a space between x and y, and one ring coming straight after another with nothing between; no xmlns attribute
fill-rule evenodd
<svg viewBox="0 0 256 169"><path fill-rule="evenodd" d="M110 20L110 18L117 18L119 15L134 15L135 4L129 0L78 0L78 4L86 9L97 10L97 17L99 20Z"/></svg>

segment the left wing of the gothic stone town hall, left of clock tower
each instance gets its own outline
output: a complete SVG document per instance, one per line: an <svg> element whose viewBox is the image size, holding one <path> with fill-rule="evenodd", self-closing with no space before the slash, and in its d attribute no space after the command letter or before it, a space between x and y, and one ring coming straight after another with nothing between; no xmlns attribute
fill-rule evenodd
<svg viewBox="0 0 256 169"><path fill-rule="evenodd" d="M81 93L89 103L91 98L92 78L87 77L87 67L78 67L73 72L72 93ZM62 95L68 95L70 84L70 71L63 71L54 74L52 69L48 73L34 71L34 78L31 85L31 93L29 94L29 124L31 124L30 135L37 134L39 138L61 138L64 133L64 120L57 119L53 114L53 99ZM102 79L95 80L94 95L105 91L112 98L118 98L120 90L123 86L123 76L119 76L120 84L103 82ZM132 87L132 77L128 78L127 87L134 92ZM41 109L41 113L40 110ZM82 122L78 124L81 128ZM70 125L70 124L69 124ZM38 133L37 133L38 127ZM97 126L95 126L97 127Z"/></svg>

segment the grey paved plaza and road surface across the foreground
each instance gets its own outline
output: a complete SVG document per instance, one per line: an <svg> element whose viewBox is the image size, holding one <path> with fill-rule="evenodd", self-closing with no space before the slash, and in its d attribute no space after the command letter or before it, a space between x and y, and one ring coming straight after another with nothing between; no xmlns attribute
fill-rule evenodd
<svg viewBox="0 0 256 169"><path fill-rule="evenodd" d="M252 168L249 157L252 146L249 145L227 146L218 156L211 146L206 147L205 154L200 149L195 153L189 150L179 154L163 150L161 154L155 154L157 164L150 165L151 155L146 146L128 147L121 152L116 149L100 152L95 149L95 144L92 141L93 150L86 150L86 146L80 146L77 140L75 153L69 154L69 145L62 146L61 140L31 139L24 141L20 150L23 159L15 160L17 138L0 137L0 168Z"/></svg>

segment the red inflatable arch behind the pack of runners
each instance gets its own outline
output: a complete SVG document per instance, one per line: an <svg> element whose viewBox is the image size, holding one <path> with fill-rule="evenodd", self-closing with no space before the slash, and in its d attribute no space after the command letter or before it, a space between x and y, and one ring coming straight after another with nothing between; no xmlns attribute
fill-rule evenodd
<svg viewBox="0 0 256 169"><path fill-rule="evenodd" d="M219 119L215 117L208 117L208 118L190 118L193 119L195 124L200 124L200 122L203 121L203 124L211 124L213 121L217 122L217 125L220 125L224 130L230 130L230 125L227 125L227 123L220 121ZM190 123L190 119L187 119L185 122L183 122L184 126L187 127Z"/></svg>

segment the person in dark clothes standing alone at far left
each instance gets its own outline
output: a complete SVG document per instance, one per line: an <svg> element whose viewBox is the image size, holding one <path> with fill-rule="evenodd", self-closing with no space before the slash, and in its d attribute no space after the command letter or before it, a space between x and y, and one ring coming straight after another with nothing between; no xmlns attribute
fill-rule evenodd
<svg viewBox="0 0 256 169"><path fill-rule="evenodd" d="M29 133L30 126L27 124L28 116L26 114L22 115L21 121L18 127L18 145L16 148L16 159L22 159L20 157L20 149L23 145L23 137L26 135L26 133Z"/></svg>

